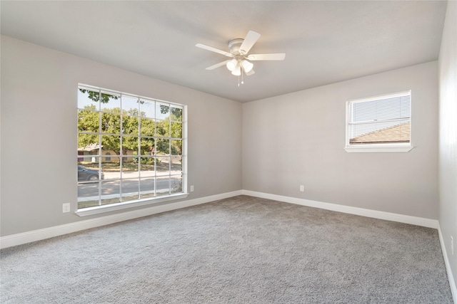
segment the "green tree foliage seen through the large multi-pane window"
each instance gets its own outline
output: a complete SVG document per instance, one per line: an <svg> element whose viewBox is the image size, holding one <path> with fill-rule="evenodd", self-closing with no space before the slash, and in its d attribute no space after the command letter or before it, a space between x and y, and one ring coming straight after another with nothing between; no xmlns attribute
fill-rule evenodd
<svg viewBox="0 0 457 304"><path fill-rule="evenodd" d="M106 104L109 103L110 99L117 100L119 98L115 95L91 90L79 90L81 93L87 94L87 97L96 103ZM144 103L144 101L140 101L140 103ZM151 118L146 118L146 115L139 113L136 108L122 112L120 108L103 108L99 114L96 111L96 105L86 105L84 110L79 110L78 129L79 132L93 133L98 133L101 129L103 149L113 150L116 154L121 152L121 135L123 135L122 152L124 155L127 150L138 151L139 145L141 155L182 154L182 140L172 140L171 142L168 138L155 140L156 137L182 137L182 109L160 105L160 110L162 114L169 113L169 116L165 120L156 122ZM101 115L101 120L99 115ZM101 126L99 127L100 123ZM140 142L138 140L139 123L141 123ZM79 134L78 147L86 147L98 142L98 134Z"/></svg>

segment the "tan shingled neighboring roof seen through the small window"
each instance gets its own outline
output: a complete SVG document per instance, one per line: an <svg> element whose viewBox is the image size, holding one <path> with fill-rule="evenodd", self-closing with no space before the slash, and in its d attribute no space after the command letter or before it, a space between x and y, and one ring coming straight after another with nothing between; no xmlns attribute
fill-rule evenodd
<svg viewBox="0 0 457 304"><path fill-rule="evenodd" d="M405 122L401 125L386 127L385 129L373 131L351 138L350 144L379 144L379 143L401 143L409 142L411 124Z"/></svg>

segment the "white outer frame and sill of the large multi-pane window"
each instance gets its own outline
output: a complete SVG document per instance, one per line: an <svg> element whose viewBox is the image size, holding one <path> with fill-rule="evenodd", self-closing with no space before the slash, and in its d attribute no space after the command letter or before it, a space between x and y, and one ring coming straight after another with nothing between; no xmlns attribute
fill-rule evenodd
<svg viewBox="0 0 457 304"><path fill-rule="evenodd" d="M161 204L166 201L175 201L176 199L185 199L187 196L189 196L189 193L187 191L187 159L188 159L188 157L187 157L187 105L171 103L171 102L164 101L164 100L157 100L155 98L149 98L149 97L134 95L134 94L130 94L130 93L118 92L115 90L99 88L99 87L95 87L93 85L85 85L82 83L80 83L78 85L78 89L79 88L95 90L95 91L98 90L99 92L103 91L103 92L107 92L107 93L114 93L116 95L126 95L129 97L140 98L140 99L144 99L144 100L151 100L151 101L154 101L157 103L176 105L176 106L179 106L179 108L182 108L182 122L181 122L182 123L182 155L181 155L181 157L182 157L182 192L179 192L176 194L169 194L166 196L156 196L156 197L149 197L146 199L136 199L136 200L123 201L123 202L114 203L114 204L104 204L104 205L99 205L99 206L86 207L83 209L77 209L75 211L76 215L90 216L93 214L101 214L101 213L116 211L116 210L121 210L121 209L130 209L130 208L134 208L137 206ZM99 109L99 111L100 110L101 109ZM100 154L99 159L101 159L102 157L104 157L104 156L102 156ZM76 201L76 205L78 205L77 201Z"/></svg>

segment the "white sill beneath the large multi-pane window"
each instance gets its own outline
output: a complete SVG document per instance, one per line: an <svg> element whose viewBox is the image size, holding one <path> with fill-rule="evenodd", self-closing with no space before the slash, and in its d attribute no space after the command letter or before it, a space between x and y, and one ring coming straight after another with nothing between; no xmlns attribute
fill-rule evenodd
<svg viewBox="0 0 457 304"><path fill-rule="evenodd" d="M138 200L138 201L128 201L125 203L94 206L94 207L79 209L78 211L75 212L75 214L77 216L89 216L89 215L94 215L94 214L102 214L102 213L111 212L111 211L134 208L134 207L138 207L138 206L159 204L159 203L163 203L164 201L174 201L176 199L185 199L187 196L189 196L189 193L180 193L180 194L174 194L174 195L170 195L170 196L158 197L155 199L143 199L143 200Z"/></svg>

